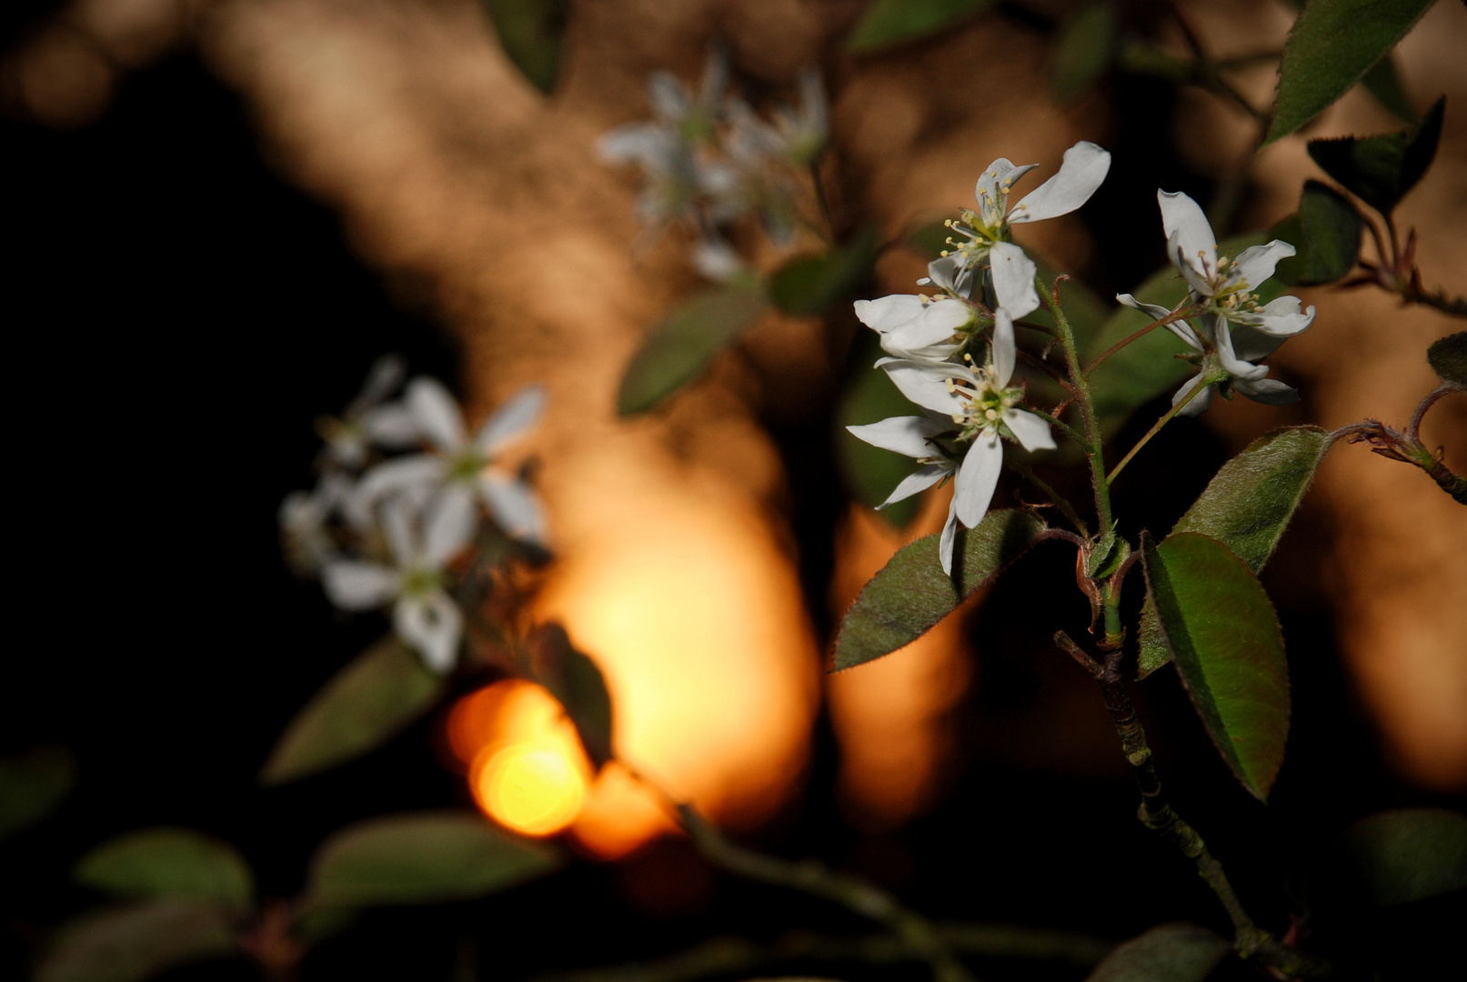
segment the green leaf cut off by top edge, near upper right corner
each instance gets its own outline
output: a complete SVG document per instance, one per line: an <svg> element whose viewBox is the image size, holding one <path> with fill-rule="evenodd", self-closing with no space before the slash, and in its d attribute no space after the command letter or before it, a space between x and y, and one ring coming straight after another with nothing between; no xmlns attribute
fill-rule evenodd
<svg viewBox="0 0 1467 982"><path fill-rule="evenodd" d="M1310 0L1284 45L1263 145L1314 119L1364 76L1433 0Z"/></svg>

